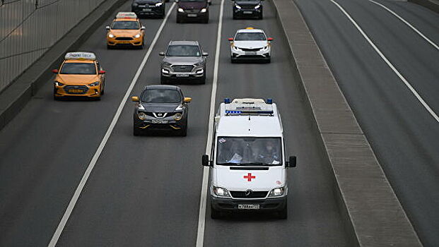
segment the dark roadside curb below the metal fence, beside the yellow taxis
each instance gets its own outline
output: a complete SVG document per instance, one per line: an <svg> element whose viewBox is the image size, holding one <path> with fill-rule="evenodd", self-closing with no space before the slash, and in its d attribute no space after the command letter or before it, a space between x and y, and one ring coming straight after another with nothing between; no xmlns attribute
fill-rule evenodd
<svg viewBox="0 0 439 247"><path fill-rule="evenodd" d="M77 49L104 20L110 17L112 12L126 1L104 1L27 68L21 76L18 76L8 88L0 92L0 130L25 107L37 90L52 78L50 69L59 66L64 54Z"/></svg>

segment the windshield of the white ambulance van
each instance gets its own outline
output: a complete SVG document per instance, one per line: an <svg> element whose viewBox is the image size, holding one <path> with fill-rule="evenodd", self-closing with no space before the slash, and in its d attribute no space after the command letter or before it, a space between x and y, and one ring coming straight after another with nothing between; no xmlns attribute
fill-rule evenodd
<svg viewBox="0 0 439 247"><path fill-rule="evenodd" d="M282 164L281 138L218 137L216 164L261 165Z"/></svg>

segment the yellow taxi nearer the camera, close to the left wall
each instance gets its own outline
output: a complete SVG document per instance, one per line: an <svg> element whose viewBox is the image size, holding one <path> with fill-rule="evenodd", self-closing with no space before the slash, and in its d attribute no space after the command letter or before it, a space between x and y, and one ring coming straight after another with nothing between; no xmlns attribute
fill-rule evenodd
<svg viewBox="0 0 439 247"><path fill-rule="evenodd" d="M54 100L72 96L99 100L104 94L105 71L92 52L69 52L52 72L56 74Z"/></svg>

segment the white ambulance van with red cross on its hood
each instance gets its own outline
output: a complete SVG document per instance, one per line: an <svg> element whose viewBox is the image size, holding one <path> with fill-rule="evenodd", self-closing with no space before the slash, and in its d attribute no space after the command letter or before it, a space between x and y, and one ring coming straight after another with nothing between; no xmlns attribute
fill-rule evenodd
<svg viewBox="0 0 439 247"><path fill-rule="evenodd" d="M281 115L273 100L226 98L215 116L210 167L211 218L223 212L275 212L288 217L286 159Z"/></svg>

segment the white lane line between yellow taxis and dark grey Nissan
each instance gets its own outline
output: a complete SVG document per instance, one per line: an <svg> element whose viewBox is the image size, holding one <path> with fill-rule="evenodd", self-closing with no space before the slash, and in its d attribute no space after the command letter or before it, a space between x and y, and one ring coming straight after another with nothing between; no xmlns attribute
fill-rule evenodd
<svg viewBox="0 0 439 247"><path fill-rule="evenodd" d="M113 117L110 126L108 126L107 133L105 133L103 140L100 142L100 145L98 147L98 150L96 150L95 155L93 155L93 158L91 159L90 163L88 164L88 167L86 169L86 172L83 174L81 181L78 184L78 187L76 188L76 191L73 195L73 197L70 200L69 205L66 208L66 212L64 212L64 216L62 217L61 221L58 224L57 230L54 232L52 239L50 240L48 247L54 247L57 245L57 242L59 240L59 237L62 234L62 231L64 230L64 227L66 226L67 221L69 220L69 217L71 215L71 212L74 210L74 207L76 205L76 202L78 201L79 196L81 195L81 192L84 188L84 186L87 183L88 177L91 174L91 171L95 167L96 162L98 162L98 159L100 157L100 154L102 153L105 144L107 143L108 138L110 138L110 135L113 131L113 128L115 128L117 120L119 119L120 114L122 114L122 109L124 108L124 105L127 103L128 97L131 94L131 90L133 90L134 85L136 85L137 80L139 79L139 76L144 69L144 66L146 64L146 61L148 61L148 57L151 54L154 45L156 44L158 37L160 36L160 32L162 32L163 27L166 24L166 21L168 20L168 17L170 16L170 13L172 9L174 8L175 3L172 4L170 7L168 13L166 14L165 19L160 25L160 28L158 28L156 32L156 36L154 37L153 41L151 42L151 45L149 46L148 52L146 52L146 55L144 56L144 60L141 62L139 68L137 69L136 75L134 76L133 80L131 80L131 84L129 85L129 88L127 92L125 92L124 98L122 99L122 102L119 104L119 108L117 108L117 112L115 116Z"/></svg>

